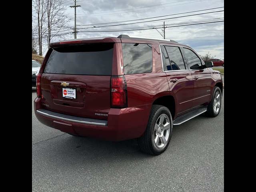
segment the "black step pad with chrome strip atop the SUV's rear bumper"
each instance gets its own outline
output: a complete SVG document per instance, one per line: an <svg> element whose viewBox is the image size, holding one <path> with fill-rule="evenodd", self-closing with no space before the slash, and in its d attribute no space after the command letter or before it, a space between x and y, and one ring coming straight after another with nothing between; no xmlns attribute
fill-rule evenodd
<svg viewBox="0 0 256 192"><path fill-rule="evenodd" d="M52 117L52 118L56 118L56 119L60 119L60 120L65 120L65 121L71 121L71 122L89 124L89 125L108 126L107 120L77 117L77 116L66 115L66 114L49 111L46 109L38 109L38 110L36 110L36 112L41 115L44 115L44 116L48 116L48 117Z"/></svg>

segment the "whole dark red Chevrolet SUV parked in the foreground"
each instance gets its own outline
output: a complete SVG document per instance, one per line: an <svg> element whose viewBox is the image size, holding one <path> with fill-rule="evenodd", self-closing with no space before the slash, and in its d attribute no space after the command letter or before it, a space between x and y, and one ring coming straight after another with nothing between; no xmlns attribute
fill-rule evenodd
<svg viewBox="0 0 256 192"><path fill-rule="evenodd" d="M50 43L37 76L36 117L74 136L138 138L159 155L173 125L220 112L220 72L172 40L86 38Z"/></svg>

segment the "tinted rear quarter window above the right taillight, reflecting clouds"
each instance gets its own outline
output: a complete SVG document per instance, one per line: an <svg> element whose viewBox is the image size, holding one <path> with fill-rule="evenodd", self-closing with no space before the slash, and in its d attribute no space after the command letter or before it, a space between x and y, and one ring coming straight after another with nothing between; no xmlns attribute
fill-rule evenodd
<svg viewBox="0 0 256 192"><path fill-rule="evenodd" d="M152 45L122 43L124 74L149 73L152 71Z"/></svg>

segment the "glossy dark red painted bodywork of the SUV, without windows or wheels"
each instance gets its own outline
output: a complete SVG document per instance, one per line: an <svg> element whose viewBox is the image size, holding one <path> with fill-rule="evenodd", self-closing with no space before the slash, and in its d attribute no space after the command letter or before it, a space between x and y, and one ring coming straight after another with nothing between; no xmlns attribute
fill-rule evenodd
<svg viewBox="0 0 256 192"><path fill-rule="evenodd" d="M64 41L65 42L65 41ZM207 105L212 98L214 86L222 86L222 78L211 68L204 70L181 70L163 72L159 44L176 45L172 42L125 39L125 38L88 38L79 44L114 43L111 76L68 75L44 73L45 64L52 52L50 48L40 68L42 73L41 91L43 98L34 100L36 117L43 124L73 135L120 141L142 136L148 124L152 104L164 96L175 101L173 120L198 106ZM144 43L152 46L152 72L124 75L122 43ZM75 44L75 43L74 43ZM179 44L180 45L180 44ZM54 42L50 47L68 46ZM185 45L180 45L184 46ZM124 76L127 86L127 108L111 108L110 80L112 76ZM194 76L198 76L197 80ZM177 79L176 82L170 82ZM62 97L62 82L67 87L76 88L76 100ZM208 90L209 93L208 93ZM44 105L42 105L44 104ZM46 109L62 114L91 119L107 120L107 126L81 124L44 116L36 112ZM96 116L95 114L108 114Z"/></svg>

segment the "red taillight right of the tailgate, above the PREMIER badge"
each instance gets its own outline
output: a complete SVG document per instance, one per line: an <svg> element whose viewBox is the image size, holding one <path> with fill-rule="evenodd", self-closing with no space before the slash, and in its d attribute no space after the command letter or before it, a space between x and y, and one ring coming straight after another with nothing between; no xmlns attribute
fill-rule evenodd
<svg viewBox="0 0 256 192"><path fill-rule="evenodd" d="M124 76L111 77L111 107L127 107L127 86Z"/></svg>

